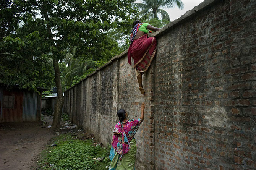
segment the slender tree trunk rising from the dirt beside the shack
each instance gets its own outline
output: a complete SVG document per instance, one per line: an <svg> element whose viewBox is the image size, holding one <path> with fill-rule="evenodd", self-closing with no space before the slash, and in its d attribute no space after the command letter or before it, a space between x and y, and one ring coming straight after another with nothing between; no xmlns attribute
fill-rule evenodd
<svg viewBox="0 0 256 170"><path fill-rule="evenodd" d="M64 104L64 97L62 94L62 84L60 81L60 67L58 65L58 60L56 58L53 59L53 68L55 71L55 83L57 87L58 97L54 107L52 128L60 128L60 119L62 117L62 107Z"/></svg>

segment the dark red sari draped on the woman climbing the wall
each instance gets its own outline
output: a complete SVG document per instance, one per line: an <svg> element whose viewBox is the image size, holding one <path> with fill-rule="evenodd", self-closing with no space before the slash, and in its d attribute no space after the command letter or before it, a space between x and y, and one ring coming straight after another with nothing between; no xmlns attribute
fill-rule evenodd
<svg viewBox="0 0 256 170"><path fill-rule="evenodd" d="M133 67L135 67L137 71L141 73L147 71L156 55L156 45L156 38L147 38L147 34L133 40L128 50L128 63L131 65L132 57L134 60Z"/></svg>

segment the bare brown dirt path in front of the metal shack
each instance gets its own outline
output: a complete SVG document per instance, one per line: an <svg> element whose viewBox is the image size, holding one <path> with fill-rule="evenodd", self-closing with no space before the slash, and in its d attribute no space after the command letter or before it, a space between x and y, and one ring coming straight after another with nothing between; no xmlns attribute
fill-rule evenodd
<svg viewBox="0 0 256 170"><path fill-rule="evenodd" d="M52 118L44 117L47 126ZM0 124L0 170L27 170L56 134L37 123Z"/></svg>

